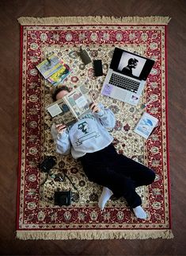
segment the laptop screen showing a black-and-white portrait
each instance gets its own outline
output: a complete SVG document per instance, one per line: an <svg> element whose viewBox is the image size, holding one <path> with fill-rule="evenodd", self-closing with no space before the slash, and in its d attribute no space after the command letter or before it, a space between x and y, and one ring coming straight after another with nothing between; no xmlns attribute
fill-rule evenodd
<svg viewBox="0 0 186 256"><path fill-rule="evenodd" d="M121 48L115 48L110 68L123 75L146 80L154 65L154 60L127 52Z"/></svg>

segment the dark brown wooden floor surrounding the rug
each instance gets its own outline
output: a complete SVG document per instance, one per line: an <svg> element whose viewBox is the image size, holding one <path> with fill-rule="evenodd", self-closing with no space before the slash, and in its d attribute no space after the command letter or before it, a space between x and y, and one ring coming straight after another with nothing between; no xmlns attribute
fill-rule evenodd
<svg viewBox="0 0 186 256"><path fill-rule="evenodd" d="M169 15L169 157L174 239L19 241L15 239L18 165L19 25L17 17ZM1 255L186 255L186 1L1 0Z"/></svg>

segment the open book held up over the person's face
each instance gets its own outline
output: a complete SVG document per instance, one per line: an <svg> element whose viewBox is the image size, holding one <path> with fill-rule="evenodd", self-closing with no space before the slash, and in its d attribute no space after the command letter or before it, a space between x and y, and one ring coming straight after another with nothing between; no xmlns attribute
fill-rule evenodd
<svg viewBox="0 0 186 256"><path fill-rule="evenodd" d="M81 85L70 91L63 99L58 99L46 107L51 114L55 124L64 124L66 126L77 122L82 115L88 114L91 110L89 105L93 103L89 91L84 85Z"/></svg>

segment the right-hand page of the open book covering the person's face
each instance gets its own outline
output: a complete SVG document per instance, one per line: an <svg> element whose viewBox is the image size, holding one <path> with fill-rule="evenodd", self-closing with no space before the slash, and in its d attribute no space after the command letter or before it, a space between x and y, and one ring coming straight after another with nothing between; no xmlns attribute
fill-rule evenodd
<svg viewBox="0 0 186 256"><path fill-rule="evenodd" d="M81 85L63 98L76 118L90 112L89 105L93 103L93 99L88 92L85 86Z"/></svg>

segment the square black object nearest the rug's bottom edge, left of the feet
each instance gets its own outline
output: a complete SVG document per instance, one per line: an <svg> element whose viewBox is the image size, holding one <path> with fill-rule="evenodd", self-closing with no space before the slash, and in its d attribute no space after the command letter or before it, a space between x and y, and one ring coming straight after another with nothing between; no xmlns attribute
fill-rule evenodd
<svg viewBox="0 0 186 256"><path fill-rule="evenodd" d="M71 191L55 191L55 205L63 206L71 204Z"/></svg>

